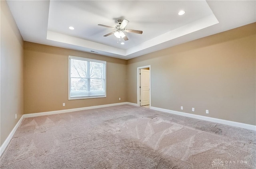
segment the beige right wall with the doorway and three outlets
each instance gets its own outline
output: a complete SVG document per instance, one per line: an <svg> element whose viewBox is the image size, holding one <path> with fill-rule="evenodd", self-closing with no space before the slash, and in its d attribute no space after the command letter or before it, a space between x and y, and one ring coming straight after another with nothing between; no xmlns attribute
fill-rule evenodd
<svg viewBox="0 0 256 169"><path fill-rule="evenodd" d="M151 106L255 125L255 31L254 23L128 60L127 101L137 103L137 67L151 65Z"/></svg>

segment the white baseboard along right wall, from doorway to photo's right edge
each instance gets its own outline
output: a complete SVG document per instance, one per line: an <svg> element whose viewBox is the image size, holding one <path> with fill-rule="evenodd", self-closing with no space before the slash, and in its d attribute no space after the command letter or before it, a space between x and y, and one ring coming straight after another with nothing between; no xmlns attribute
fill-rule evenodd
<svg viewBox="0 0 256 169"><path fill-rule="evenodd" d="M151 107L151 109L152 110L158 110L158 111L161 111L161 112L176 114L176 115L180 115L180 116L186 116L186 117L196 118L196 119L200 119L200 120L206 120L206 121L209 121L209 122L226 124L226 125L229 125L229 126L245 128L245 129L249 129L249 130L256 130L256 126L251 125L251 124L245 124L245 123L233 122L233 121L229 121L229 120L222 120L222 119L219 119L219 118L212 118L212 117L200 116L200 115L196 115L196 114L178 112L178 111L168 110L168 109L164 109L164 108Z"/></svg>

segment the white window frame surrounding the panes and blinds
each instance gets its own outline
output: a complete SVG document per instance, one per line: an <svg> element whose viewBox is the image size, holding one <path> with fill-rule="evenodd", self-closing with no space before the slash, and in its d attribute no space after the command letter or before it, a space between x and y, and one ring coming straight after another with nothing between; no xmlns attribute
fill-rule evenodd
<svg viewBox="0 0 256 169"><path fill-rule="evenodd" d="M71 59L76 59L76 60L82 60L82 61L90 61L90 62L96 62L96 63L103 63L105 64L105 79L104 79L104 87L105 87L105 95L101 95L101 96L80 96L80 97L70 97L70 87L71 87ZM102 61L102 60L96 60L96 59L89 59L89 58L85 58L85 57L77 57L77 56L68 56L68 100L78 100L78 99L87 99L87 98L105 98L107 97L107 86L106 86L106 79L107 79L107 72L106 72L106 67L107 67L107 62L106 61Z"/></svg>

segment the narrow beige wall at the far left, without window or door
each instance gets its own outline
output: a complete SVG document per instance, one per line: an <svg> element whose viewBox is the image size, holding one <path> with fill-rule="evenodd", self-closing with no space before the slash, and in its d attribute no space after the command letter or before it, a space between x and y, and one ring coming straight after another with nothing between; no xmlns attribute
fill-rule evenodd
<svg viewBox="0 0 256 169"><path fill-rule="evenodd" d="M1 0L0 6L0 145L2 145L23 114L23 39L6 1Z"/></svg>

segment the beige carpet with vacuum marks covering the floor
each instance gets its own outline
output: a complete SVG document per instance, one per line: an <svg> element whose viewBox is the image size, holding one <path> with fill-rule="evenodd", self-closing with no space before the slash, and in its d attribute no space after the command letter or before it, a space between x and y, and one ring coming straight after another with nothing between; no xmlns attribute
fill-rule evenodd
<svg viewBox="0 0 256 169"><path fill-rule="evenodd" d="M25 118L1 169L255 169L256 134L122 105Z"/></svg>

